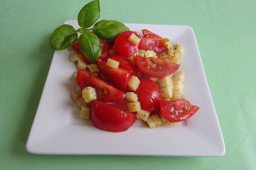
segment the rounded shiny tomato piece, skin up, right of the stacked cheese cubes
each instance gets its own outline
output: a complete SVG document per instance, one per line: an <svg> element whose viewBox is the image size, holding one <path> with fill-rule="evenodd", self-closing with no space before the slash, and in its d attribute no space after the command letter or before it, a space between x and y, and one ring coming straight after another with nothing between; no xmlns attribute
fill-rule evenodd
<svg viewBox="0 0 256 170"><path fill-rule="evenodd" d="M138 95L138 101L140 102L141 109L154 113L159 109L159 102L162 98L160 88L157 84L150 79L139 79L139 87L135 94Z"/></svg>

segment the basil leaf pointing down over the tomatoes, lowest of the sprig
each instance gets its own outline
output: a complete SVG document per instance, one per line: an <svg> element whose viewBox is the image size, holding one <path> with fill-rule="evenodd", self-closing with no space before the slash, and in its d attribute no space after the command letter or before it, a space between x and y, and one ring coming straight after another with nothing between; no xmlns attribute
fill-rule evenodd
<svg viewBox="0 0 256 170"><path fill-rule="evenodd" d="M99 38L95 34L89 31L82 33L79 37L78 46L79 50L85 54L86 58L91 63L95 63L96 59L99 58L101 45L99 43Z"/></svg>

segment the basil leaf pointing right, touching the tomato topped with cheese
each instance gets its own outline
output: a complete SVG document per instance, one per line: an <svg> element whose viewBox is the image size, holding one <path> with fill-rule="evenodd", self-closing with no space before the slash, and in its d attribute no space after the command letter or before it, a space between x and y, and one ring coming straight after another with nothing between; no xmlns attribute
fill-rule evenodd
<svg viewBox="0 0 256 170"><path fill-rule="evenodd" d="M101 20L95 23L91 30L102 40L115 41L121 32L129 31L130 29L118 21Z"/></svg>

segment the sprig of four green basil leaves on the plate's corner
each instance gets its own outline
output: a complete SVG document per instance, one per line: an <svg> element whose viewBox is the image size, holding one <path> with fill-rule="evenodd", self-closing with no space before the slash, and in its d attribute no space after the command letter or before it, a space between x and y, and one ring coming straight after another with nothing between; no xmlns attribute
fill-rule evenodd
<svg viewBox="0 0 256 170"><path fill-rule="evenodd" d="M81 28L76 30L73 26L67 24L58 27L51 35L51 48L53 50L63 50L75 43L78 32L82 33L78 41L79 50L85 54L91 63L95 63L101 53L99 38L105 41L115 41L121 32L130 30L123 23L114 20L101 20L95 23L99 17L99 0L87 3L80 10L77 17L78 25ZM93 28L89 28L93 24Z"/></svg>

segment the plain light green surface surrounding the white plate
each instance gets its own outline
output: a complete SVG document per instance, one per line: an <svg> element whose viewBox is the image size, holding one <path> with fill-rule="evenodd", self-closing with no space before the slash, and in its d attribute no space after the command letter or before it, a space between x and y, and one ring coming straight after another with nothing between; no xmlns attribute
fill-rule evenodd
<svg viewBox="0 0 256 170"><path fill-rule="evenodd" d="M100 1L99 19L193 28L223 133L224 156L27 153L27 137L54 53L50 35L65 20L77 19L88 2L1 1L0 169L256 168L256 1Z"/></svg>

